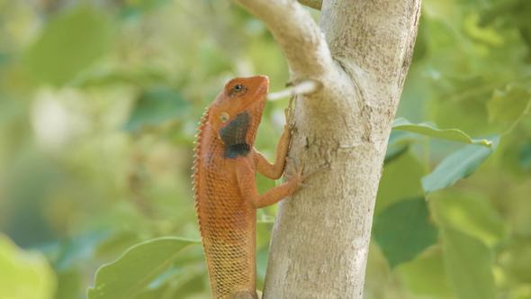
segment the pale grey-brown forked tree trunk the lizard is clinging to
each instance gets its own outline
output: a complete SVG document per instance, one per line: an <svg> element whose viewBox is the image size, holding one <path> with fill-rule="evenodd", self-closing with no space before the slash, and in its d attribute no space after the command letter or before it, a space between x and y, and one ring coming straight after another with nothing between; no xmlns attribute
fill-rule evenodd
<svg viewBox="0 0 531 299"><path fill-rule="evenodd" d="M320 170L280 204L264 298L362 298L374 200L419 23L420 0L237 0L284 50L298 95L289 157ZM293 164L293 163L290 163ZM293 165L292 165L293 166Z"/></svg>

